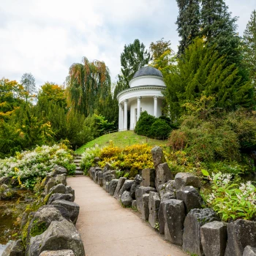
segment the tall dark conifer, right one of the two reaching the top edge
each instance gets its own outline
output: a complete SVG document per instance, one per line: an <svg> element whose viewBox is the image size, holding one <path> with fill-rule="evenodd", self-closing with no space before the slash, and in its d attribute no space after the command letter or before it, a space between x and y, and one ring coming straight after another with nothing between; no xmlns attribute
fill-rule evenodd
<svg viewBox="0 0 256 256"><path fill-rule="evenodd" d="M202 0L201 36L209 46L217 46L219 56L227 56L227 65L241 64L236 20L228 12L225 0Z"/></svg>

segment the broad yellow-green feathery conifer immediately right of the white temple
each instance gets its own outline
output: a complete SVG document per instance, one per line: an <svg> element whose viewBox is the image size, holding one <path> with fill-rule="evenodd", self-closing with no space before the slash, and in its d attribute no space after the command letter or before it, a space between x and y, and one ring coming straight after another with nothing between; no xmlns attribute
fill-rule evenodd
<svg viewBox="0 0 256 256"><path fill-rule="evenodd" d="M215 46L207 46L203 39L195 39L178 59L176 69L165 77L165 96L173 120L184 113L184 103L202 96L214 97L217 108L252 106L251 83L242 80L235 64L227 65L226 57L219 56Z"/></svg>

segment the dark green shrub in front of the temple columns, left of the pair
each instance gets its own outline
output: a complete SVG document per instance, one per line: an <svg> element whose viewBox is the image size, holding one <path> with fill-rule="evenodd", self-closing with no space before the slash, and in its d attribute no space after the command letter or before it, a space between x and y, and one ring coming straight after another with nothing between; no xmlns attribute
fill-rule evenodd
<svg viewBox="0 0 256 256"><path fill-rule="evenodd" d="M148 136L150 132L151 125L154 124L156 118L154 116L149 115L146 111L143 111L140 114L140 118L135 127L135 133L138 135Z"/></svg>

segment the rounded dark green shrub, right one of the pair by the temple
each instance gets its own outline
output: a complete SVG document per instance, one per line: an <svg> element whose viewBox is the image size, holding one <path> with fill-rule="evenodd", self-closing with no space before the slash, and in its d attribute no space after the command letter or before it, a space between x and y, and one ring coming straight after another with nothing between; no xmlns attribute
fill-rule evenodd
<svg viewBox="0 0 256 256"><path fill-rule="evenodd" d="M167 124L165 120L157 118L157 120L151 125L148 137L158 140L166 140L170 135L170 131L170 125Z"/></svg>

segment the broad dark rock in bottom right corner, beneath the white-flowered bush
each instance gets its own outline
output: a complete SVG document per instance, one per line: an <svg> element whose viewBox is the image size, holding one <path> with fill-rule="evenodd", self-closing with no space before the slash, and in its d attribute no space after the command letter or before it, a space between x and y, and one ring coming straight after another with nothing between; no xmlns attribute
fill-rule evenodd
<svg viewBox="0 0 256 256"><path fill-rule="evenodd" d="M256 247L256 222L238 219L227 225L227 248L225 256L240 256L249 245Z"/></svg>

